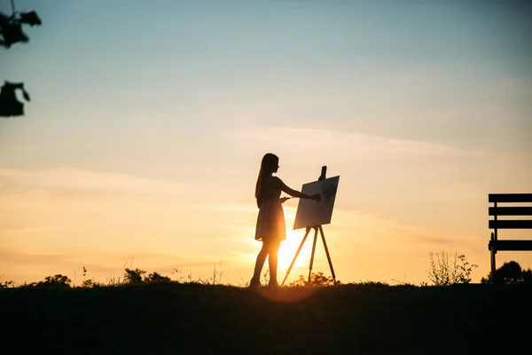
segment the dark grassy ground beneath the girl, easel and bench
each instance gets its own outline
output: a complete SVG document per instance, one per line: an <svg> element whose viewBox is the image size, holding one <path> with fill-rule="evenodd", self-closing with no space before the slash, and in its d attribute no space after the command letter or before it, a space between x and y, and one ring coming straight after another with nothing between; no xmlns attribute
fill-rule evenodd
<svg viewBox="0 0 532 355"><path fill-rule="evenodd" d="M9 288L0 334L5 353L509 353L531 309L529 285Z"/></svg>

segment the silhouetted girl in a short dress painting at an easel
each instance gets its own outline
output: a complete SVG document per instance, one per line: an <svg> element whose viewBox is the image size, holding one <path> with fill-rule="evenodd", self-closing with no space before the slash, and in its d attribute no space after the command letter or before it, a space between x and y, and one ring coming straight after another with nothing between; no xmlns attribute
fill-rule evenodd
<svg viewBox="0 0 532 355"><path fill-rule="evenodd" d="M285 214L281 204L289 199L289 197L280 198L281 191L301 199L319 201L321 198L320 194L309 195L295 191L286 186L280 178L272 176L278 171L278 162L279 158L275 154L268 153L262 157L261 170L255 186L255 198L259 207L255 240L262 241L262 248L257 256L250 287L261 286L262 266L267 256L270 267L269 286L278 287L278 250L281 241L286 240Z"/></svg>

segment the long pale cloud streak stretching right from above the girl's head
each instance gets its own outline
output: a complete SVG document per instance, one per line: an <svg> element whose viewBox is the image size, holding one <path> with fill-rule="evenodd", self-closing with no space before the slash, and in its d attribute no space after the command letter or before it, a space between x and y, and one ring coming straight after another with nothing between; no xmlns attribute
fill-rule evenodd
<svg viewBox="0 0 532 355"><path fill-rule="evenodd" d="M434 193L434 186L448 197L446 189L455 193L466 189L471 193L474 186L477 190L494 191L510 182L513 189L532 187L528 169L532 153L527 151L495 153L349 131L287 126L247 127L231 134L244 145L264 146L278 152L284 162L297 162L300 170L316 166L317 162L336 167L344 177L340 189L356 181L366 185L366 191L373 189L390 198L403 198L402 193L418 196ZM393 195L392 190L382 191L387 187L392 188Z"/></svg>

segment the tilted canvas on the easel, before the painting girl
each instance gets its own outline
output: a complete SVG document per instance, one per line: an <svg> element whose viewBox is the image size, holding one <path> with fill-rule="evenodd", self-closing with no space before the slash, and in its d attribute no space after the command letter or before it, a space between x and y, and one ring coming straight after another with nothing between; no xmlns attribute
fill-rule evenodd
<svg viewBox="0 0 532 355"><path fill-rule="evenodd" d="M332 208L334 207L339 182L340 176L325 178L324 180L314 181L302 186L301 193L319 193L322 197L319 202L300 199L293 222L293 229L331 223Z"/></svg>

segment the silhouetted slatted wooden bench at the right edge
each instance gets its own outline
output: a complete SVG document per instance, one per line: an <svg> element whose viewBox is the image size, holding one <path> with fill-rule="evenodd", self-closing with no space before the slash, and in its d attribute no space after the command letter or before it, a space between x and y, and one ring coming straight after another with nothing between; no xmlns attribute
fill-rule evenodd
<svg viewBox="0 0 532 355"><path fill-rule="evenodd" d="M493 229L488 248L491 252L491 283L495 280L495 255L497 251L532 251L532 240L503 240L498 239L499 229L532 229L532 219L498 219L498 217L523 217L532 218L532 206L499 206L498 203L529 203L532 202L532 193L489 193L489 229ZM532 238L532 237L531 237Z"/></svg>

